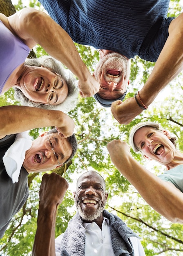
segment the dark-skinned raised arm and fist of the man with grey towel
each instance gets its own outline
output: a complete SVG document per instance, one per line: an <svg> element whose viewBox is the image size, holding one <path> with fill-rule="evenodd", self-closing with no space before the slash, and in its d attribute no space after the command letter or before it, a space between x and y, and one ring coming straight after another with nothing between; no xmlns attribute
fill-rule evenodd
<svg viewBox="0 0 183 256"><path fill-rule="evenodd" d="M56 211L68 189L67 181L56 173L44 174L40 186L37 230L32 256L55 256Z"/></svg>

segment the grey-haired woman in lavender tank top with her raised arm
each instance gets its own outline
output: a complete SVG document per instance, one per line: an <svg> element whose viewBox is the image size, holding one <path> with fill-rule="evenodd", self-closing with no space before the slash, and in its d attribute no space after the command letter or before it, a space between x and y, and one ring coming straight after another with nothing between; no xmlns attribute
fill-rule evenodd
<svg viewBox="0 0 183 256"><path fill-rule="evenodd" d="M68 110L78 92L74 79L67 77L57 61L78 77L82 97L98 91L99 83L81 60L72 39L46 13L33 8L24 8L10 17L0 13L0 30L0 94L16 87L16 98L24 105L53 109L52 105L62 103L60 110L66 105ZM25 61L37 44L53 58ZM25 95L23 99L20 91Z"/></svg>

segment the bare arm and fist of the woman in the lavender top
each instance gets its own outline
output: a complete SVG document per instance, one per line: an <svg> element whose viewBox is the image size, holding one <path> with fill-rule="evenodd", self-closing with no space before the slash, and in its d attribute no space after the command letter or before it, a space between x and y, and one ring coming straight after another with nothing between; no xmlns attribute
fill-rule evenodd
<svg viewBox="0 0 183 256"><path fill-rule="evenodd" d="M8 17L9 25L24 42L33 48L41 45L79 80L82 97L92 97L99 90L99 83L90 74L71 37L46 13L34 8L24 8Z"/></svg>

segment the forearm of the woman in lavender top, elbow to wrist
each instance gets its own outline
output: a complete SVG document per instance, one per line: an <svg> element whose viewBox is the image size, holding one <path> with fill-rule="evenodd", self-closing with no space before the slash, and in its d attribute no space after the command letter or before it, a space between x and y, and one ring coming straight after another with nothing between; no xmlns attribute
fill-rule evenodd
<svg viewBox="0 0 183 256"><path fill-rule="evenodd" d="M45 15L45 13L43 15ZM68 67L79 80L87 80L87 76L90 75L89 70L80 58L71 37L62 27L51 20L49 16L45 17L44 22L39 14L35 16L34 19L37 20L38 17L39 20L34 26L36 29L39 25L37 31L39 31L39 33L42 31L43 33L41 36L40 34L34 34L37 43L40 44L48 54ZM50 37L48 38L47 35L50 35Z"/></svg>

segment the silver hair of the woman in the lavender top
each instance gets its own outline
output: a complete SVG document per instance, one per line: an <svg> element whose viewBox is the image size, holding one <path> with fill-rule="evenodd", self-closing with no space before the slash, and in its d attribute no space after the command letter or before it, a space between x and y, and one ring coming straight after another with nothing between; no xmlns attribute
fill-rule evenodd
<svg viewBox="0 0 183 256"><path fill-rule="evenodd" d="M29 107L36 107L36 108L43 108L43 109L50 109L50 110L61 110L63 112L69 112L71 109L75 108L77 100L78 100L78 89L76 87L76 79L74 76L66 70L62 63L57 61L51 56L42 56L39 58L27 58L25 60L25 65L28 66L35 66L35 67L46 67L49 68L51 71L58 73L62 78L66 81L68 86L68 94L66 99L58 104L58 105L46 105L43 103L32 102L23 94L23 92L16 88L14 88L14 97L17 101L23 106Z"/></svg>

